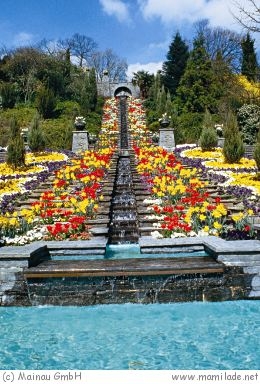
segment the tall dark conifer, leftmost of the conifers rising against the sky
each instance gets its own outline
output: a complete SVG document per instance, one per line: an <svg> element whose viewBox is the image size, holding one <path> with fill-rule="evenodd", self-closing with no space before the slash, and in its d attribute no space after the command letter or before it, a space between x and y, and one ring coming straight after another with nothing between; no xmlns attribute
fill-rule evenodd
<svg viewBox="0 0 260 384"><path fill-rule="evenodd" d="M167 60L162 66L162 81L172 96L175 95L180 79L185 71L189 57L189 48L182 40L179 32L176 33L167 53Z"/></svg>

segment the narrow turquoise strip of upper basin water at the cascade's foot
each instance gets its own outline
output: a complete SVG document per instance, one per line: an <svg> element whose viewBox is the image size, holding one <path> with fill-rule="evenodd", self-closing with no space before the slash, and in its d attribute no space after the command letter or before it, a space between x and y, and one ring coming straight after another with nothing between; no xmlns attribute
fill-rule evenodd
<svg viewBox="0 0 260 384"><path fill-rule="evenodd" d="M137 259L137 258L158 258L158 257L198 257L208 256L205 251L190 250L187 252L171 252L171 253L141 253L137 244L120 244L108 245L105 255L82 254L76 255L52 255L52 260L115 260L115 259Z"/></svg>

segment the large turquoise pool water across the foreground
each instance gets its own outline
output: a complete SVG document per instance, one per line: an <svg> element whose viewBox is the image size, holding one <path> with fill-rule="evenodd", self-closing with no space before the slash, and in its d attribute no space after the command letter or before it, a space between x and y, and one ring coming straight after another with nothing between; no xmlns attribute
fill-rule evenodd
<svg viewBox="0 0 260 384"><path fill-rule="evenodd" d="M259 369L260 302L0 308L1 369Z"/></svg>

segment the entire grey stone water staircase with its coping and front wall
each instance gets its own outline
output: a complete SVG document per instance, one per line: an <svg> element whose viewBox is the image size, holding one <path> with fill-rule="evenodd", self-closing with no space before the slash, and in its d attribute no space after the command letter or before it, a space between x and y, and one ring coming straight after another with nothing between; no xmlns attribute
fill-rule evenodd
<svg viewBox="0 0 260 384"><path fill-rule="evenodd" d="M1 248L0 305L260 298L259 241L151 237L153 220L144 203L149 192L135 171L125 97L119 101L119 127L118 152L103 181L104 200L89 223L93 238ZM106 257L109 246L121 244L136 244L140 256ZM198 251L207 253L196 256Z"/></svg>

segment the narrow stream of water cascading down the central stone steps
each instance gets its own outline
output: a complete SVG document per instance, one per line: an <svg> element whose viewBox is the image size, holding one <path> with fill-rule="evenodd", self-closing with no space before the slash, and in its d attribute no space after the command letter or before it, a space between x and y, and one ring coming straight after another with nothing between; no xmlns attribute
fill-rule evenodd
<svg viewBox="0 0 260 384"><path fill-rule="evenodd" d="M131 149L127 123L127 100L119 101L119 155L112 195L109 225L109 243L137 243L139 225L133 190Z"/></svg>

